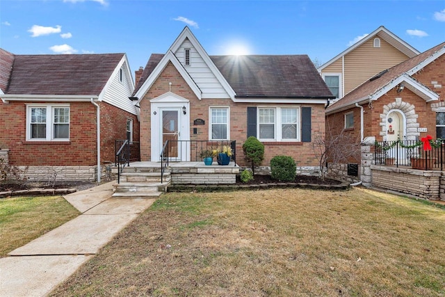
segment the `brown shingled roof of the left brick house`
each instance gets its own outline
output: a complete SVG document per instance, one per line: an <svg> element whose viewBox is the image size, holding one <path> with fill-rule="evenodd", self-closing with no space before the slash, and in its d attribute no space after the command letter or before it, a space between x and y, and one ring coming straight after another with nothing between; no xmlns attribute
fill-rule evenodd
<svg viewBox="0 0 445 297"><path fill-rule="evenodd" d="M12 70L3 92L5 95L99 96L124 56L125 54L13 55ZM3 77L3 69L1 72Z"/></svg>

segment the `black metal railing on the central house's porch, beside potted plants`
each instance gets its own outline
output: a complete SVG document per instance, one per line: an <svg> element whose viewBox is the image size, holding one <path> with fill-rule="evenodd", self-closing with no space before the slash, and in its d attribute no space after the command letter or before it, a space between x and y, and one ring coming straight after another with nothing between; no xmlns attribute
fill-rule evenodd
<svg viewBox="0 0 445 297"><path fill-rule="evenodd" d="M232 148L231 160L236 166L236 141L165 141L161 151L161 182L169 162L202 161L201 152L221 152L225 146Z"/></svg>

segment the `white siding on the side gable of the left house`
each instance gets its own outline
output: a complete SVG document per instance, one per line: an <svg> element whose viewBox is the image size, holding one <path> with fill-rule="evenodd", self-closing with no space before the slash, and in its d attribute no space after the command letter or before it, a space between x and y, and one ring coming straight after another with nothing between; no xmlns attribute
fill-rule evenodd
<svg viewBox="0 0 445 297"><path fill-rule="evenodd" d="M119 81L118 70L116 74L113 74L113 80L104 94L103 101L123 109L124 111L128 111L129 113L136 114L136 108L133 105L133 102L128 98L131 96L133 88L131 88L131 78L127 71L127 63L124 63L121 69L124 72L122 82Z"/></svg>

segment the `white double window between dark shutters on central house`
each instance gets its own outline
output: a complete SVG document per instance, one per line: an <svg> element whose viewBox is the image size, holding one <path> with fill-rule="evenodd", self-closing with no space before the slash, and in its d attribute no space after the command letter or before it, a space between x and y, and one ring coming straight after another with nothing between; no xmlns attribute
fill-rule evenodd
<svg viewBox="0 0 445 297"><path fill-rule="evenodd" d="M257 134L263 141L299 141L300 108L260 107Z"/></svg>

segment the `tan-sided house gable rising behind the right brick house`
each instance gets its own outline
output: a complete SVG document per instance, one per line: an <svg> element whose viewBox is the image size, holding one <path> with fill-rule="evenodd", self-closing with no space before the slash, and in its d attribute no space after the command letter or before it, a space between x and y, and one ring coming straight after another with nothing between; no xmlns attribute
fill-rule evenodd
<svg viewBox="0 0 445 297"><path fill-rule="evenodd" d="M336 101L389 67L420 54L384 26L366 35L320 67Z"/></svg>

